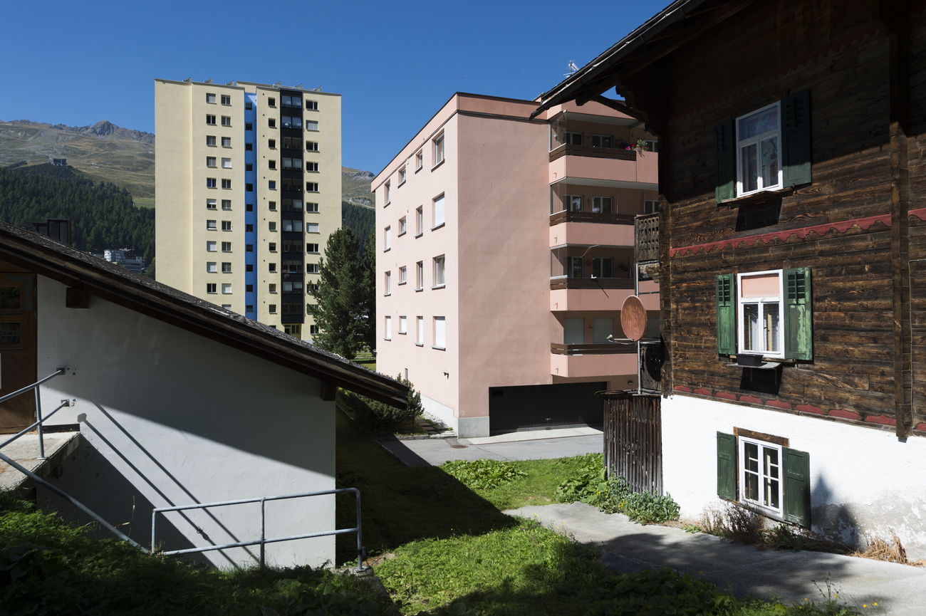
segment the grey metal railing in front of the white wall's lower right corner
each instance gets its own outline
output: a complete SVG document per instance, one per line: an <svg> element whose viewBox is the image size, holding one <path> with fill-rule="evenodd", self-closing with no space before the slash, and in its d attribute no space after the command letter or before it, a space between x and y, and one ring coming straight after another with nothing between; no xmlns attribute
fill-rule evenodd
<svg viewBox="0 0 926 616"><path fill-rule="evenodd" d="M307 534L296 534L289 537L270 537L266 535L266 511L264 508L265 503L268 500L285 500L288 498L303 498L303 497L321 497L328 494L344 494L346 492L353 492L357 497L357 526L354 528L343 528L334 531L325 531L321 533L307 533ZM207 509L210 507L226 507L230 505L244 505L248 503L260 503L260 538L252 541L237 541L234 543L223 544L221 546L206 546L206 547L188 547L186 549L174 549L167 552L161 552L164 556L174 556L176 554L193 554L197 552L209 552L217 549L228 549L230 547L247 547L247 546L260 546L260 566L264 566L264 560L266 556L266 545L269 543L278 543L281 541L294 541L296 539L309 539L312 537L322 537L329 534L347 534L357 532L357 571L363 571L363 558L365 556L365 549L363 547L363 541L360 532L360 491L356 487L345 487L339 488L336 490L323 490L320 492L304 492L301 494L288 494L282 495L279 497L260 497L260 498L243 498L241 500L223 500L215 503L203 503L196 505L180 505L177 507L158 507L151 511L151 551L154 553L155 546L157 545L156 533L157 533L157 514L164 513L166 511L183 511L186 509Z"/></svg>

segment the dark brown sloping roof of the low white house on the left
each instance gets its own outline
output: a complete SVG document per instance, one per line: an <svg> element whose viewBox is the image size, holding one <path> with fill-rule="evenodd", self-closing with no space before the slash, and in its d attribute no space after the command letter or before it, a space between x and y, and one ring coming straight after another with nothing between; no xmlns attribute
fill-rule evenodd
<svg viewBox="0 0 926 616"><path fill-rule="evenodd" d="M319 379L319 396L332 399L334 387L406 407L408 388L378 372L269 325L220 308L166 284L54 240L0 222L0 259L101 297L119 306L175 325L226 346Z"/></svg>

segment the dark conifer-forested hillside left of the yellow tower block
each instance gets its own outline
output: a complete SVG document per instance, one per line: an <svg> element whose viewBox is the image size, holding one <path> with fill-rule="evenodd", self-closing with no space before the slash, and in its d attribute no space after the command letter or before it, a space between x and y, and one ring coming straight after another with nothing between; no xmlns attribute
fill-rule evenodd
<svg viewBox="0 0 926 616"><path fill-rule="evenodd" d="M78 250L132 248L145 263L155 257L155 210L133 206L124 188L47 163L0 168L0 220L31 230L47 219L70 220Z"/></svg>

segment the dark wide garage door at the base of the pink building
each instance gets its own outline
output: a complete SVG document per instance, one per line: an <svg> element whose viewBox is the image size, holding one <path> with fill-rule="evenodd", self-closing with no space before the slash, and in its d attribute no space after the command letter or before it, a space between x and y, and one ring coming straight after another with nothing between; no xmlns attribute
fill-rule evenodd
<svg viewBox="0 0 926 616"><path fill-rule="evenodd" d="M596 396L607 383L553 383L489 387L491 434L544 430L603 422L604 400Z"/></svg>

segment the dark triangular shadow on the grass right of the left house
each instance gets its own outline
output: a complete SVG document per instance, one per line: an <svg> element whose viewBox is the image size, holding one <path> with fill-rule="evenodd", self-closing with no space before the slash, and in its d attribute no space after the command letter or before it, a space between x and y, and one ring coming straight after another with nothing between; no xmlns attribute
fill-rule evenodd
<svg viewBox="0 0 926 616"><path fill-rule="evenodd" d="M518 522L495 509L439 468L409 468L369 435L358 434L337 413L338 487L356 487L361 497L363 543L368 554L389 552L409 541L454 534L483 534ZM338 528L353 528L354 497L338 497ZM354 534L337 536L338 564L357 559Z"/></svg>

